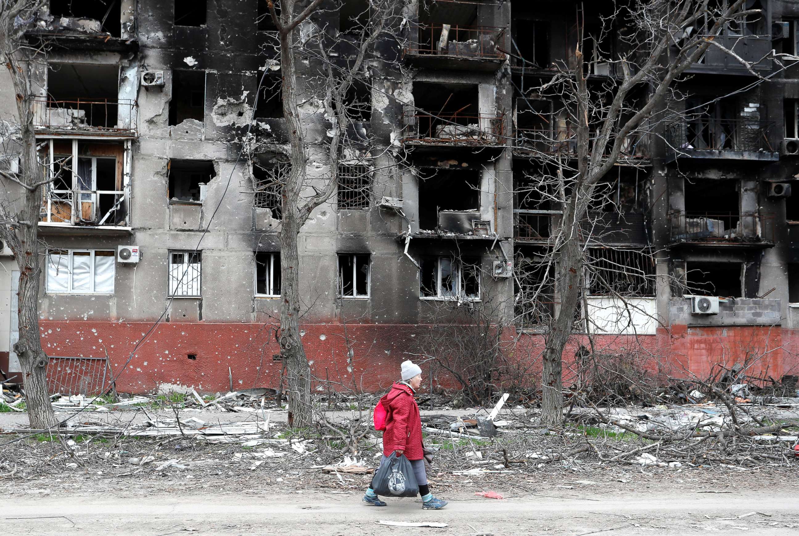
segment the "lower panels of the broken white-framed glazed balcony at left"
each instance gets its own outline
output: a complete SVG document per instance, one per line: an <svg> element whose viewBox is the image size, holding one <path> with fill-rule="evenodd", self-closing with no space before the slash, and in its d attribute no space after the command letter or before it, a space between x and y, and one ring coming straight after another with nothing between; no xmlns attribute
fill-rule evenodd
<svg viewBox="0 0 799 536"><path fill-rule="evenodd" d="M64 225L128 224L125 192L117 190L46 191L42 204L42 223Z"/></svg>

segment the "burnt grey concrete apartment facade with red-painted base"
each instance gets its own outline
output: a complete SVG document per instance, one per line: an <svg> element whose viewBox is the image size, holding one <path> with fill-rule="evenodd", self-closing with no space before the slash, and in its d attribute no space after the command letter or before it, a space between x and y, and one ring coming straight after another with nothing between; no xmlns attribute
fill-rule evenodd
<svg viewBox="0 0 799 536"><path fill-rule="evenodd" d="M256 254L279 253L280 220L272 208L258 206L252 162L280 160L288 148L280 111L270 105L253 109L261 78L268 84L260 98L275 99L280 77L274 34L256 20L263 15L262 3L208 0L197 2L204 10L176 14L172 2L122 0L110 18L118 17L118 25L106 18L101 26L102 14L76 7L72 13L39 14L28 34L58 45L31 67L38 82L34 94L59 103L42 105L38 129L46 150L87 162L114 157L117 164L107 179L113 187L97 183L88 188L92 193L74 193L71 208L51 196L43 208L42 239L57 251L111 251L116 257L119 246L135 245L141 253L137 264L114 263L113 292L89 294L75 292L72 279L65 292L52 292L42 260L43 345L52 355L107 352L121 391L152 391L165 383L217 391L227 387L229 375L244 387L271 387L279 375L272 355L279 351L274 332L280 298L258 296ZM423 9L427 3L433 6L429 12ZM514 306L524 282L493 276L495 264L519 267L547 248L548 233L558 223L557 215L525 208L515 195L521 170L541 165L519 141L525 130L519 106L529 97L524 88L551 77L546 65L527 65L519 54L532 50L527 41L539 39L547 48L544 64L569 58L574 10L528 3L538 2L409 2L402 29L408 45L380 43L382 57L401 57L403 69L389 68L388 61L371 68L371 117L361 126L375 138L372 152L380 157L372 161L368 208L340 208L334 196L316 208L300 234L300 294L308 308L304 340L320 378L333 371L350 379L359 375L368 388L392 379L396 363L414 351L415 330L430 324L442 303L420 290L414 263L423 259L475 259L481 298L507 304L507 318L527 319L526 307L555 312L553 303L529 306L516 300ZM773 22L799 19L799 5L761 3L768 30L745 37L748 46L796 54L785 48L795 36L771 33ZM588 20L598 22L600 14L590 10ZM326 11L324 18L329 31L342 27L338 10ZM426 54L424 47L433 45L425 44L423 32L437 24L480 30L469 39L454 39L449 54ZM541 46L531 54L543 54ZM312 64L298 65L312 76ZM605 67L596 69L598 83L612 77ZM629 210L608 216L606 242L656 252L653 275L674 282L660 282L636 297L643 314L632 326L622 325L623 315L612 312L618 304L592 298L589 314L597 311L597 324L604 326L598 339L609 351L630 347L632 336L658 359L699 373L714 357L708 340L741 340L746 330L746 336L778 344L763 370L777 379L794 373L795 343L785 341L795 340L799 328L790 305L799 302L799 269L791 268L799 268L792 264L799 263L799 244L793 241L799 210L797 220L791 219L792 199L799 199L799 156L786 149L785 140L799 139L799 127L789 132L786 125L788 117L799 121L796 109L793 116L786 112L799 101L799 66L758 62L755 69L771 75L769 81L753 84L757 78L746 69L709 54L679 89L703 102L724 97L724 108L715 107L699 126L663 126L630 149L619 166L618 191L627 181L634 194ZM162 73L163 83L146 85L145 73ZM0 76L0 113L12 117L10 92L2 90L9 82ZM447 94L473 110L463 112L471 117L460 127L466 134L439 131L427 118L443 109ZM89 103L82 111L78 99ZM115 112L108 111L109 102ZM670 105L685 109L686 102ZM54 108L78 111L54 113ZM309 109L301 112L310 143L308 173L324 181L326 123ZM252 161L246 152L240 157L251 117ZM425 121L430 121L427 130ZM101 164L92 165L99 170ZM433 176L462 190L473 183L474 199L436 186ZM773 184L793 184L797 193L775 197ZM384 197L400 199L401 211L381 206ZM547 236L541 236L544 227L536 227L535 236L523 231L532 217L544 222ZM714 231L714 225L721 230ZM171 299L169 278L177 269L172 253L194 250L201 252L197 290ZM340 296L342 255L368 256L367 296ZM6 256L2 264L0 359L2 351L10 351L3 334L12 331L14 316L14 263ZM93 285L99 284L97 266ZM737 291L716 294L725 298L719 314L691 314L691 299L683 297L697 283L690 274L710 272L713 288L726 289L736 269ZM716 273L721 279L713 280ZM161 324L153 335L145 335L157 320ZM541 326L524 320L518 328L527 351L540 351ZM149 338L137 345L143 337ZM726 362L734 363L745 351L728 353ZM13 364L12 355L11 373Z"/></svg>

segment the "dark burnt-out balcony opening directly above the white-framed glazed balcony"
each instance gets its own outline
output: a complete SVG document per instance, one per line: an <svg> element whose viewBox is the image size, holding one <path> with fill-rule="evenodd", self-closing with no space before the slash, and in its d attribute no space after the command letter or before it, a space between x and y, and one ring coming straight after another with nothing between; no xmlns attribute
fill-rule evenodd
<svg viewBox="0 0 799 536"><path fill-rule="evenodd" d="M117 65L48 64L46 116L50 126L113 129L121 105L118 98Z"/></svg>

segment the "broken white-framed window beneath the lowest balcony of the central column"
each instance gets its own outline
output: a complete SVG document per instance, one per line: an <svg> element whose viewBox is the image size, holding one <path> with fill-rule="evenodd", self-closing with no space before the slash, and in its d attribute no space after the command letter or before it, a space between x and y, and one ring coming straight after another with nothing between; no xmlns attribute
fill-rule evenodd
<svg viewBox="0 0 799 536"><path fill-rule="evenodd" d="M480 260L427 257L419 274L422 300L479 300Z"/></svg>

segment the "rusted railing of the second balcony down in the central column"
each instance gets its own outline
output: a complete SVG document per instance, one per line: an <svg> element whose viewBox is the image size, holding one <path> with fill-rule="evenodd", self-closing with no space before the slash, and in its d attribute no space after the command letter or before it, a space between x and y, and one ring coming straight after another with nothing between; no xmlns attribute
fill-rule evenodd
<svg viewBox="0 0 799 536"><path fill-rule="evenodd" d="M504 124L502 113L440 113L434 116L410 111L405 115L403 141L432 145L504 145Z"/></svg>

